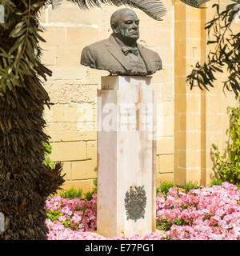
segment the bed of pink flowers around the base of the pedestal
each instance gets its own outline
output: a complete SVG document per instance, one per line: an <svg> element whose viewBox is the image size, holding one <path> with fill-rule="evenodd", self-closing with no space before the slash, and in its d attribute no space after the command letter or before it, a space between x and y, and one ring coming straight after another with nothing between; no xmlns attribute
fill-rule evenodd
<svg viewBox="0 0 240 256"><path fill-rule="evenodd" d="M89 233L96 229L97 194L90 201L47 198L49 240L240 240L240 190L228 182L222 186L190 190L188 194L170 188L157 197L157 227L162 234L141 238L104 238Z"/></svg>

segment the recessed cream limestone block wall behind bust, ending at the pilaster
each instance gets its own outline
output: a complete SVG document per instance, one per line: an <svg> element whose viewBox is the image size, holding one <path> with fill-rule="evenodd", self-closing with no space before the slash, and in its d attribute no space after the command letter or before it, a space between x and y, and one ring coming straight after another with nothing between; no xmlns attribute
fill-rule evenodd
<svg viewBox="0 0 240 256"><path fill-rule="evenodd" d="M158 183L173 180L174 171L174 25L173 6L167 3L164 22L154 21L140 10L140 40L162 57L163 70L154 75L158 91ZM80 66L84 46L108 38L110 16L115 6L79 10L63 2L42 11L41 25L46 28L42 61L53 71L45 88L54 103L45 112L46 133L51 136L52 161L62 161L66 173L64 189L81 187L88 191L97 177L96 92L106 71Z"/></svg>

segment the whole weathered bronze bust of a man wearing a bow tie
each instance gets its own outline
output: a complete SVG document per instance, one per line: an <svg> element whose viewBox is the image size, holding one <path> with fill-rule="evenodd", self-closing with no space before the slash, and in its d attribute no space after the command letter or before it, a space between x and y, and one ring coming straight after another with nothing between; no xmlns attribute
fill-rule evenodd
<svg viewBox="0 0 240 256"><path fill-rule="evenodd" d="M124 8L112 14L110 38L82 50L81 64L110 74L146 76L162 70L158 53L137 43L139 19L133 10Z"/></svg>

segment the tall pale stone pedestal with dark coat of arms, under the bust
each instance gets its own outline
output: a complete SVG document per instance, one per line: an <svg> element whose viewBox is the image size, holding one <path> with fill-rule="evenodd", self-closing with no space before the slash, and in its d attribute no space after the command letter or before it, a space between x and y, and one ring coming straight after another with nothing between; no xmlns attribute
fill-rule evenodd
<svg viewBox="0 0 240 256"><path fill-rule="evenodd" d="M155 230L155 100L151 77L102 77L98 90L97 232Z"/></svg>

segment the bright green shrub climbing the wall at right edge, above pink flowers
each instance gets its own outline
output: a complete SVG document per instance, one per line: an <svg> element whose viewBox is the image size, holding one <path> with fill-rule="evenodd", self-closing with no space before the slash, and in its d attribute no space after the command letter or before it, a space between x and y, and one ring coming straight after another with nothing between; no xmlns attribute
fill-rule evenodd
<svg viewBox="0 0 240 256"><path fill-rule="evenodd" d="M227 158L220 155L218 146L213 146L213 170L218 180L240 186L240 108L230 108L229 146Z"/></svg>

